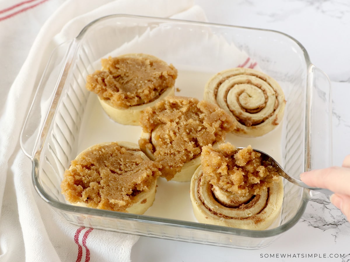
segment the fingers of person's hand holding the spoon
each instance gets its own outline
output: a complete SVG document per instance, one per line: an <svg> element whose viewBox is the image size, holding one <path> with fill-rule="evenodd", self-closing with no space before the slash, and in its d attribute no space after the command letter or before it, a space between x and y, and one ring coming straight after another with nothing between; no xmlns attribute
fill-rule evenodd
<svg viewBox="0 0 350 262"><path fill-rule="evenodd" d="M304 172L300 179L310 187L327 188L334 192L330 202L350 221L350 155L341 167L328 167Z"/></svg>

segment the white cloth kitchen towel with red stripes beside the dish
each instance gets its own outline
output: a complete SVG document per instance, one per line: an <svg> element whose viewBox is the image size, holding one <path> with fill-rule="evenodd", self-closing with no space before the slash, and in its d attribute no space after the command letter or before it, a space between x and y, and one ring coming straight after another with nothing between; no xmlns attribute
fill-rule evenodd
<svg viewBox="0 0 350 262"><path fill-rule="evenodd" d="M1 8L5 7L3 2ZM19 3L30 2L46 1ZM49 4L45 3L46 8ZM32 15L16 17L16 23L21 18L22 23L33 22L45 12L45 8L32 6L21 11ZM3 92L6 98L1 99L5 104L0 109L0 261L130 261L138 236L71 225L42 201L31 181L30 160L19 143L29 105L52 50L75 37L88 22L114 13L205 20L192 0L66 0L48 18L11 88ZM2 22L10 24L11 19Z"/></svg>

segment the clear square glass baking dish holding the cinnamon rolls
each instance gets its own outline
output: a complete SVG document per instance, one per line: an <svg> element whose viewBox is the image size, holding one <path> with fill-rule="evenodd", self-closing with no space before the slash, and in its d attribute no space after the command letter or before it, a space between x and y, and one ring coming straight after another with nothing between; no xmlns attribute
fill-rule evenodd
<svg viewBox="0 0 350 262"><path fill-rule="evenodd" d="M219 71L245 64L265 72L285 92L282 123L259 138L229 135L227 140L265 151L294 177L331 165L330 82L295 39L271 30L111 15L85 26L49 58L21 134L37 193L79 226L243 249L270 245L301 218L312 197L309 190L285 182L280 224L264 231L197 223L189 183L183 182L159 179L156 200L144 215L65 201L62 176L79 152L105 141L137 143L141 133L139 126L119 125L104 114L96 95L85 89L86 75L100 69L103 57L141 52L172 63L179 70L176 95L198 99L203 99L205 82ZM181 193L174 193L175 187Z"/></svg>

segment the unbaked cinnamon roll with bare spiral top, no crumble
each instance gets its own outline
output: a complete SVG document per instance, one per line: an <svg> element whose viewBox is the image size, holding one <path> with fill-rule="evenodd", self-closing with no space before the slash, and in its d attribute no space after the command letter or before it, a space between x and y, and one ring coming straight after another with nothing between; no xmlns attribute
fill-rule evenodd
<svg viewBox="0 0 350 262"><path fill-rule="evenodd" d="M206 84L204 100L233 116L238 136L258 137L273 130L283 118L285 96L268 75L250 68L215 74Z"/></svg>

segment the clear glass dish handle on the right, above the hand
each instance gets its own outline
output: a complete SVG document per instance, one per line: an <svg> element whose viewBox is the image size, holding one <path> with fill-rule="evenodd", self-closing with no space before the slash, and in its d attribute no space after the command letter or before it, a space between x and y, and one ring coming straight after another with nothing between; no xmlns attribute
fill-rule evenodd
<svg viewBox="0 0 350 262"><path fill-rule="evenodd" d="M309 158L307 170L332 165L332 98L328 76L314 65L311 66L311 104Z"/></svg>

